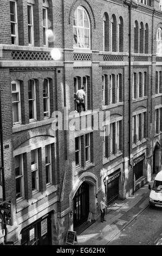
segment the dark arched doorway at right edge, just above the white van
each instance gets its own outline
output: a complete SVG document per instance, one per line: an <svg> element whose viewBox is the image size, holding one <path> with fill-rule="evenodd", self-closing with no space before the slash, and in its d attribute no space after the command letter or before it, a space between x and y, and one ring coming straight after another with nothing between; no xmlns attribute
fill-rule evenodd
<svg viewBox="0 0 162 256"><path fill-rule="evenodd" d="M161 152L160 152L160 145L157 143L155 145L153 151L153 164L152 164L152 173L158 173L161 166Z"/></svg>

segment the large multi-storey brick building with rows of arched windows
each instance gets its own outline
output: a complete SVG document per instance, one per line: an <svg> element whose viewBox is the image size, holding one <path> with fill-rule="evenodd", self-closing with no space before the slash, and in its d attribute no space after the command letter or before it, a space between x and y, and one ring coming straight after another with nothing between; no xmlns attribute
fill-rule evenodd
<svg viewBox="0 0 162 256"><path fill-rule="evenodd" d="M102 196L125 199L161 169L161 6L1 1L3 188L13 206L7 240L62 244L89 212L98 218ZM79 114L81 86L86 112Z"/></svg>

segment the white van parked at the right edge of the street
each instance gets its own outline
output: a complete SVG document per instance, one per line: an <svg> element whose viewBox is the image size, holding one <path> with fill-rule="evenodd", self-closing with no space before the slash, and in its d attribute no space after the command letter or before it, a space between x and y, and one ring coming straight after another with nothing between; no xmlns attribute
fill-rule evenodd
<svg viewBox="0 0 162 256"><path fill-rule="evenodd" d="M162 207L162 170L155 176L153 186L148 185L151 190L149 203L152 206Z"/></svg>

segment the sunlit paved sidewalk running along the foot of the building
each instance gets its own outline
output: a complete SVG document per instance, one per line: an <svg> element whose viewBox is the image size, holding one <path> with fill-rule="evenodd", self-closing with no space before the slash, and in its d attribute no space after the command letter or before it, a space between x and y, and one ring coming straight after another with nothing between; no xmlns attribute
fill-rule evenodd
<svg viewBox="0 0 162 256"><path fill-rule="evenodd" d="M77 235L75 245L108 245L121 230L131 223L134 218L141 214L148 205L148 183L134 192L125 200L116 199L108 204L105 222L100 217L81 234Z"/></svg>

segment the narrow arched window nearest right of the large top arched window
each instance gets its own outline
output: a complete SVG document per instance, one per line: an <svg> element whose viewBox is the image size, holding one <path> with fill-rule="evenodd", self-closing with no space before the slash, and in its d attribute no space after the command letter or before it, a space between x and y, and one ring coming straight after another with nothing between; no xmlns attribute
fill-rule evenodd
<svg viewBox="0 0 162 256"><path fill-rule="evenodd" d="M109 48L109 36L108 36L108 31L109 31L109 19L108 19L108 14L105 13L103 15L103 51L108 51Z"/></svg>

